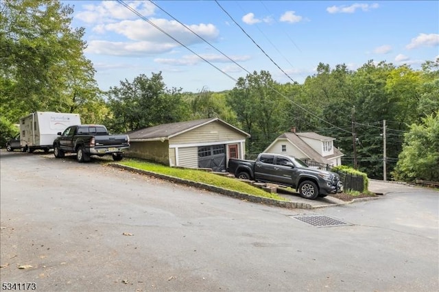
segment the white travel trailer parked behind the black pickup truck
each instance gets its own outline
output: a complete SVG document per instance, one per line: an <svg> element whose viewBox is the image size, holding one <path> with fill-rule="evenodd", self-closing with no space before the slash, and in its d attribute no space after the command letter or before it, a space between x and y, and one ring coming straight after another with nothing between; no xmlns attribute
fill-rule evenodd
<svg viewBox="0 0 439 292"><path fill-rule="evenodd" d="M23 151L54 148L58 132L71 125L81 125L79 114L63 112L32 112L20 119L20 147Z"/></svg>

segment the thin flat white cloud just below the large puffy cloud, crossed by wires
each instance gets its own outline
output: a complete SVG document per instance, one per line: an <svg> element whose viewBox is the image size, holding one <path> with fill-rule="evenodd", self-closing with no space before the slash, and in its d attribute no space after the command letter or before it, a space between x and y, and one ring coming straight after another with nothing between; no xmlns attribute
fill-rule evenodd
<svg viewBox="0 0 439 292"><path fill-rule="evenodd" d="M217 63L226 63L231 62L228 60L228 58L218 55L218 54L200 54L204 60L207 60L209 62L217 62ZM230 56L230 59L234 60L235 62L241 62L246 61L250 59L250 56ZM156 58L154 59L154 62L160 63L160 64L167 64L167 65L177 65L177 66L186 66L186 65L195 65L200 62L204 62L201 58L195 55L187 55L183 56L182 58Z"/></svg>

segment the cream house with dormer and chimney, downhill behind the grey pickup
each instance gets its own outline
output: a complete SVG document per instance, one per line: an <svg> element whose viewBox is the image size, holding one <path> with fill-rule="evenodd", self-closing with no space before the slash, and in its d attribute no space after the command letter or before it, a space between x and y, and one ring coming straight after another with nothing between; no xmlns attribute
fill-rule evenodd
<svg viewBox="0 0 439 292"><path fill-rule="evenodd" d="M291 132L278 136L264 152L294 156L305 160L310 166L328 165L335 167L342 165L342 151L334 147L335 138L322 136L315 132Z"/></svg>

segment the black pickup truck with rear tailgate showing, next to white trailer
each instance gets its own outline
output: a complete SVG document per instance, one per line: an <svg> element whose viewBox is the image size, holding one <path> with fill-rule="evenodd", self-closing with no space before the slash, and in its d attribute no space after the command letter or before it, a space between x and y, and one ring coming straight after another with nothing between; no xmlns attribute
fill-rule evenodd
<svg viewBox="0 0 439 292"><path fill-rule="evenodd" d="M110 135L104 125L72 125L58 132L54 141L54 155L76 153L79 162L90 161L91 155L112 155L115 161L122 160L124 151L130 147L128 135Z"/></svg>

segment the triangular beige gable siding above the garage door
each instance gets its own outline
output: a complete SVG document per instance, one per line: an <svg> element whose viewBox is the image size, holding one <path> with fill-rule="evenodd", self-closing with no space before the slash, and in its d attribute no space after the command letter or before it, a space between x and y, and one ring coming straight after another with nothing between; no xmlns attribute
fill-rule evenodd
<svg viewBox="0 0 439 292"><path fill-rule="evenodd" d="M193 143L219 143L222 141L242 140L243 135L235 130L224 127L221 123L215 121L202 125L191 131L185 132L170 139L171 144L193 144Z"/></svg>

